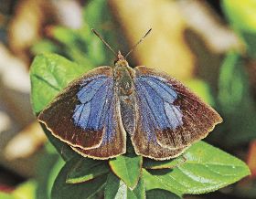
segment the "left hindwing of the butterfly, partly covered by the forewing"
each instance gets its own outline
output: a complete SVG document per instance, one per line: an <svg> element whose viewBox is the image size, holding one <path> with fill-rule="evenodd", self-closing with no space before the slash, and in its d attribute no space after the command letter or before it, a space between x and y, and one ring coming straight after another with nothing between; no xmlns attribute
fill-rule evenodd
<svg viewBox="0 0 256 199"><path fill-rule="evenodd" d="M84 150L78 147L72 149L82 156L94 159L109 159L126 152L126 133L121 120L119 99L114 92L112 102L107 110L106 131L101 145L94 149Z"/></svg>

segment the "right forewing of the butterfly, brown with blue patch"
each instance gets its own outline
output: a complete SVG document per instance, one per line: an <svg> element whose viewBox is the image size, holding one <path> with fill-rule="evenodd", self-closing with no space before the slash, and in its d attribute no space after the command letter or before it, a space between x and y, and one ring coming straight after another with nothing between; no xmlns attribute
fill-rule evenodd
<svg viewBox="0 0 256 199"><path fill-rule="evenodd" d="M222 121L215 110L176 79L150 68L134 70L138 122L148 123L138 125L134 134L144 134L145 142L153 141L170 150L183 149L205 138ZM133 137L137 150L142 147L138 139Z"/></svg>

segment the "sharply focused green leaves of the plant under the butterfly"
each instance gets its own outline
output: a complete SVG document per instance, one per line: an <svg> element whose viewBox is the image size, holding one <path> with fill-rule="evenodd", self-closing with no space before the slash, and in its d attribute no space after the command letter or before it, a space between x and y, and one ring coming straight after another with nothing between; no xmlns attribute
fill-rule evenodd
<svg viewBox="0 0 256 199"><path fill-rule="evenodd" d="M85 70L56 55L38 56L30 73L33 110L36 113L42 110L61 88ZM52 198L94 198L102 194L105 185L105 195L115 195L116 198L123 193L130 198L144 198L144 184L147 191L164 189L178 195L203 194L235 183L250 173L245 163L203 141L187 150L184 154L186 162L182 158L164 162L146 159L143 164L142 157L128 149L128 154L109 161L110 172L108 161L81 158L67 144L46 129L44 131L67 162L55 180ZM119 188L108 182L119 184Z"/></svg>

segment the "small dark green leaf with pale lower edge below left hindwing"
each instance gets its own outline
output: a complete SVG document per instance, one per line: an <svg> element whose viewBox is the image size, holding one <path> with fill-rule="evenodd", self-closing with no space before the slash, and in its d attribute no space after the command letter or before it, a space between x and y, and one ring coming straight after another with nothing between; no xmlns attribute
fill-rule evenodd
<svg viewBox="0 0 256 199"><path fill-rule="evenodd" d="M69 171L66 183L83 183L109 173L109 171L110 168L106 161L95 161L82 157Z"/></svg>

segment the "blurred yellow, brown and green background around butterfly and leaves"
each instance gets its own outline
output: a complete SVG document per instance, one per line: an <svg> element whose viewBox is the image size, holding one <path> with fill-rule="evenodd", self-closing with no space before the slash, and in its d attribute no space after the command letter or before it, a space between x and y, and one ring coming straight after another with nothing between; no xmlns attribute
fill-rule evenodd
<svg viewBox="0 0 256 199"><path fill-rule="evenodd" d="M186 198L256 198L256 0L0 0L0 198L48 198L63 165L30 105L29 66L52 52L95 68L114 58L163 70L223 117L206 141L248 163L251 176Z"/></svg>

